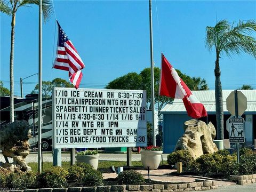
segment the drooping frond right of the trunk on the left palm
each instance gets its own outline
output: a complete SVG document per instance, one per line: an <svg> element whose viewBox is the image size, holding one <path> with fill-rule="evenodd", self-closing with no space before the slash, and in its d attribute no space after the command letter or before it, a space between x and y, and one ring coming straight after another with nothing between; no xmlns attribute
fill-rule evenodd
<svg viewBox="0 0 256 192"><path fill-rule="evenodd" d="M27 6L28 4L39 5L39 0L19 0L19 6ZM42 1L42 10L44 15L44 22L48 21L51 18L51 14L53 13L53 6L50 0Z"/></svg>

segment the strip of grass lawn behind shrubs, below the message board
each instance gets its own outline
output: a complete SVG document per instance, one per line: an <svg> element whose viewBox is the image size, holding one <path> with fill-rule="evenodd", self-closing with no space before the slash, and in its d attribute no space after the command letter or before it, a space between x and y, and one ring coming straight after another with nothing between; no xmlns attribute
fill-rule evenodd
<svg viewBox="0 0 256 192"><path fill-rule="evenodd" d="M162 162L161 162L161 165L162 165ZM163 165L167 165L167 162L163 161ZM35 162L28 163L28 166L31 167L33 172L37 172L38 170L37 163ZM49 170L52 166L53 166L52 162L43 162L42 170L43 171ZM61 166L63 169L68 169L70 167L70 162L62 162ZM98 170L101 173L109 173L111 172L109 169L110 166L114 166L115 168L120 166L126 166L126 162L125 161L99 161ZM132 166L142 168L142 163L141 161L133 161Z"/></svg>

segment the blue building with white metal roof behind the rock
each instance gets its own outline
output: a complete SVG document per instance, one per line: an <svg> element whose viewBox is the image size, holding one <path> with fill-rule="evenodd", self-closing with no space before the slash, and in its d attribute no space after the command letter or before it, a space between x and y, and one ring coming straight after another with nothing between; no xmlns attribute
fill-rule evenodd
<svg viewBox="0 0 256 192"><path fill-rule="evenodd" d="M245 145L254 145L256 139L256 90L239 90L247 98L247 109L242 117L245 120ZM200 118L199 120L212 122L216 126L216 112L215 112L215 91L192 91L195 97L201 101L207 111L208 116ZM223 114L224 114L224 137L228 139L229 134L226 130L226 121L231 116L227 110L226 99L232 90L223 90ZM164 153L171 153L178 139L183 135L183 123L191 119L187 115L182 99L174 99L173 103L166 105L161 113L163 115L163 150Z"/></svg>

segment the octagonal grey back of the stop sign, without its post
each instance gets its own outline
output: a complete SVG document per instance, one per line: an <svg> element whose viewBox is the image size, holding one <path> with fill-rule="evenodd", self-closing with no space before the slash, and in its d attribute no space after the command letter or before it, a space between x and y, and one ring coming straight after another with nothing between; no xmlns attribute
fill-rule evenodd
<svg viewBox="0 0 256 192"><path fill-rule="evenodd" d="M231 115L236 115L235 109L235 91L232 91L227 97L227 110L230 112ZM237 91L237 107L238 107L238 114L243 115L244 111L247 108L247 98L241 91Z"/></svg>

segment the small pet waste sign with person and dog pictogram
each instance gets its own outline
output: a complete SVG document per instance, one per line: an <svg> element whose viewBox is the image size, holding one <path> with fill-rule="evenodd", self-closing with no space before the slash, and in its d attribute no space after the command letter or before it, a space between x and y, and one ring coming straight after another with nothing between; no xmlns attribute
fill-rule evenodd
<svg viewBox="0 0 256 192"><path fill-rule="evenodd" d="M244 142L244 119L242 117L229 118L229 142L243 143Z"/></svg>

